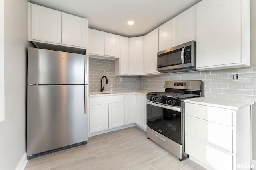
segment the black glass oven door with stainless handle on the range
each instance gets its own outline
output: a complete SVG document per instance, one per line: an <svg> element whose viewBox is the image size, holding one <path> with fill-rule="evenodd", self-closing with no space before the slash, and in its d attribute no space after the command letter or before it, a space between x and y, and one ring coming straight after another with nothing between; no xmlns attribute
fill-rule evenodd
<svg viewBox="0 0 256 170"><path fill-rule="evenodd" d="M181 107L178 106L147 101L147 126L181 144L181 111Z"/></svg>

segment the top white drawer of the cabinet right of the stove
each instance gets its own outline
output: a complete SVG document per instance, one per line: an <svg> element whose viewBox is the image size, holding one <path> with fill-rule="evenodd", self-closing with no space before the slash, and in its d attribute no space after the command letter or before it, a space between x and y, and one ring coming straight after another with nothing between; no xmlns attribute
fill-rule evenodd
<svg viewBox="0 0 256 170"><path fill-rule="evenodd" d="M232 127L232 110L185 103L185 114Z"/></svg>

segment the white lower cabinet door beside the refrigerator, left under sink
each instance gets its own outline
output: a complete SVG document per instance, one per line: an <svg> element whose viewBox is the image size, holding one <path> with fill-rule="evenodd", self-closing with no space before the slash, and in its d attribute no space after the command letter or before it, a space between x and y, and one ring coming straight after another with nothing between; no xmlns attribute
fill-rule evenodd
<svg viewBox="0 0 256 170"><path fill-rule="evenodd" d="M90 133L108 129L108 104L90 106Z"/></svg>

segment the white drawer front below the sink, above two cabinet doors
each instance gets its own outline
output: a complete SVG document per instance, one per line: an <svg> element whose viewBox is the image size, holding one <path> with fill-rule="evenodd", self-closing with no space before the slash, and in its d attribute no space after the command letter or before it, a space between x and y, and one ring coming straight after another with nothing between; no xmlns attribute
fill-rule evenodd
<svg viewBox="0 0 256 170"><path fill-rule="evenodd" d="M90 97L90 105L124 102L124 95Z"/></svg>

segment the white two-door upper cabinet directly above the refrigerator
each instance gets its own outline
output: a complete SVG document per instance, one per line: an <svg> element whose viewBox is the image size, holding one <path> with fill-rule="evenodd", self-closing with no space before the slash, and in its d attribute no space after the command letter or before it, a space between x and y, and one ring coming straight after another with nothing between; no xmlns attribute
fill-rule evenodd
<svg viewBox="0 0 256 170"><path fill-rule="evenodd" d="M28 3L28 40L86 49L88 20Z"/></svg>

